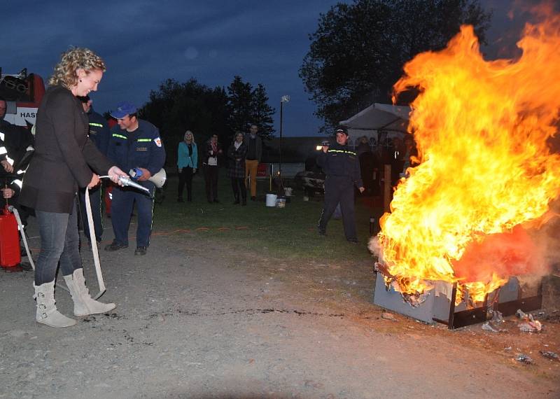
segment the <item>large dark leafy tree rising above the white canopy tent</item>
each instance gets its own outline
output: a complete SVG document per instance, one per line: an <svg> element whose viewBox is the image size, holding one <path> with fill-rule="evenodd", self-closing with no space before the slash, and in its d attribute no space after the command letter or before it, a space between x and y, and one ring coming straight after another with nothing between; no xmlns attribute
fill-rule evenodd
<svg viewBox="0 0 560 399"><path fill-rule="evenodd" d="M444 48L461 25L473 25L485 43L490 18L478 0L355 0L321 14L300 77L323 130L372 102L388 102L402 66Z"/></svg>

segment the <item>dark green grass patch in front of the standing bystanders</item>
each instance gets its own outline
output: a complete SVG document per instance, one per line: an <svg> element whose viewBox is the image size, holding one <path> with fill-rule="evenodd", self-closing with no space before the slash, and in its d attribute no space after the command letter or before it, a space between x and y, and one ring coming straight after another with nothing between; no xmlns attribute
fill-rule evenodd
<svg viewBox="0 0 560 399"><path fill-rule="evenodd" d="M154 230L184 230L201 239L211 239L218 246L236 246L273 258L321 260L370 260L367 251L370 214L356 204L356 228L360 244L346 242L342 221L331 220L327 237L318 235L316 225L323 202L304 202L302 191L295 190L286 208L266 207L265 202L248 200L246 207L234 205L230 179L221 169L218 180L219 204L209 204L201 174L193 179L193 202L176 202L176 176L165 188L165 200L154 210ZM268 181L258 181L258 194L264 195ZM186 195L186 193L184 194ZM179 232L178 232L179 233ZM192 236L191 236L192 237Z"/></svg>

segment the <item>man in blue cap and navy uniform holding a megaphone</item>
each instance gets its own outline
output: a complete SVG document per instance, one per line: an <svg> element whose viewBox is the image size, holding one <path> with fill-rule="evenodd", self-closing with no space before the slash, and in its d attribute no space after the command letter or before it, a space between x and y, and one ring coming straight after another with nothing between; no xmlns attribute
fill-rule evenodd
<svg viewBox="0 0 560 399"><path fill-rule="evenodd" d="M155 185L148 179L165 164L165 148L157 127L138 119L137 107L130 102L120 102L111 116L118 126L111 130L107 157L124 171L131 171L137 183L154 194ZM134 188L115 187L111 204L111 221L115 239L105 251L118 251L128 247L128 227L134 202L137 203L137 248L134 255L146 255L150 245L153 200Z"/></svg>

